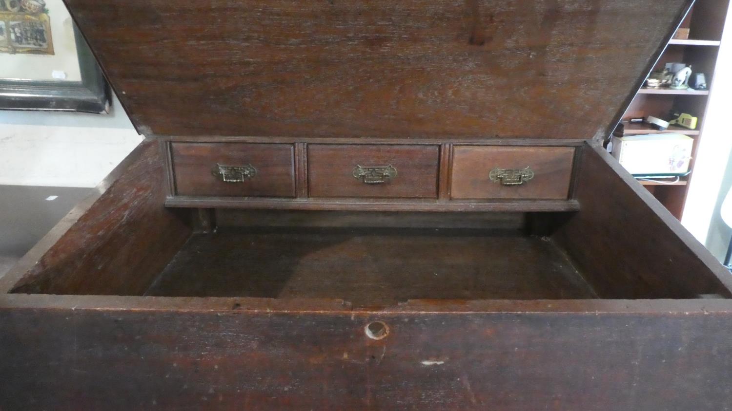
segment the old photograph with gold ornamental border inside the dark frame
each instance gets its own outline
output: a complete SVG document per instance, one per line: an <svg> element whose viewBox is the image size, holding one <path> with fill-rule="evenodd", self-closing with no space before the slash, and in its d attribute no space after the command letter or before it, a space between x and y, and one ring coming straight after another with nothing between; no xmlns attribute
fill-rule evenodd
<svg viewBox="0 0 732 411"><path fill-rule="evenodd" d="M0 0L0 53L53 55L45 0Z"/></svg>

